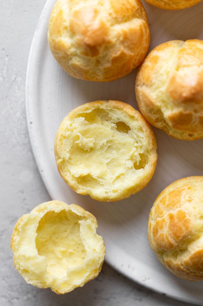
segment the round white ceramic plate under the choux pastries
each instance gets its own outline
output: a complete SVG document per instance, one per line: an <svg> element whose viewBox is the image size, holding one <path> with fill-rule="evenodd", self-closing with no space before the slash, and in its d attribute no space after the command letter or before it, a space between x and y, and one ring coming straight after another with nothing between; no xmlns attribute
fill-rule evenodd
<svg viewBox="0 0 203 306"><path fill-rule="evenodd" d="M203 174L203 140L175 140L154 129L158 164L149 184L129 199L101 203L70 189L55 165L53 143L62 119L80 104L112 99L138 109L134 92L137 70L109 83L76 80L66 74L48 48L48 18L55 0L48 0L34 34L27 67L27 123L34 156L52 199L75 203L93 213L106 244L106 261L115 269L159 293L203 305L203 282L181 280L167 271L151 251L147 238L150 208L173 181ZM144 2L151 29L149 50L172 39L203 39L203 1L189 9L165 11Z"/></svg>

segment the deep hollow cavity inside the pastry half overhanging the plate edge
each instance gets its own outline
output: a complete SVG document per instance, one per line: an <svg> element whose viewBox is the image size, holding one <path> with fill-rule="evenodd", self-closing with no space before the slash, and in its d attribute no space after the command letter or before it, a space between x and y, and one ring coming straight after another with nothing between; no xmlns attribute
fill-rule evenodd
<svg viewBox="0 0 203 306"><path fill-rule="evenodd" d="M39 221L35 240L38 254L46 257L47 271L62 278L69 267L82 265L86 256L80 238L81 217L72 211L48 211Z"/></svg>

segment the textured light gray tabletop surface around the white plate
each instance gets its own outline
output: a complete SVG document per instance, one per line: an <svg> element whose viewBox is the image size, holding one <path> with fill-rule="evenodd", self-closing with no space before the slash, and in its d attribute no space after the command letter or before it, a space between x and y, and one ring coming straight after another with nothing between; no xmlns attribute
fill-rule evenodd
<svg viewBox="0 0 203 306"><path fill-rule="evenodd" d="M45 0L0 0L0 5L0 305L191 305L146 290L107 264L98 278L63 296L28 285L14 269L10 238L16 221L50 200L31 151L25 114L27 59Z"/></svg>

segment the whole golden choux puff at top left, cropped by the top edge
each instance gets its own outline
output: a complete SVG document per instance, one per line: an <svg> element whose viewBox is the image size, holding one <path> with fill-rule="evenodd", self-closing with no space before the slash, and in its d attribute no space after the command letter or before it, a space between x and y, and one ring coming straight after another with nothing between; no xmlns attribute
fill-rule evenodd
<svg viewBox="0 0 203 306"><path fill-rule="evenodd" d="M48 25L50 50L71 76L112 81L143 61L150 42L140 0L58 0Z"/></svg>

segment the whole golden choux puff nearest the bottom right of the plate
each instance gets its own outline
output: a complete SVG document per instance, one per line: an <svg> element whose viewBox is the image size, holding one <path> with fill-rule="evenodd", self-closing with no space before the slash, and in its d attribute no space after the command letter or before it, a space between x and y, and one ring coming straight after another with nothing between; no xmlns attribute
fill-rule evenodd
<svg viewBox="0 0 203 306"><path fill-rule="evenodd" d="M148 238L167 269L203 280L203 176L182 178L160 193L149 215Z"/></svg>

